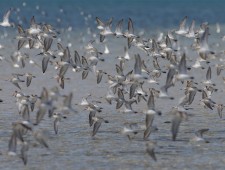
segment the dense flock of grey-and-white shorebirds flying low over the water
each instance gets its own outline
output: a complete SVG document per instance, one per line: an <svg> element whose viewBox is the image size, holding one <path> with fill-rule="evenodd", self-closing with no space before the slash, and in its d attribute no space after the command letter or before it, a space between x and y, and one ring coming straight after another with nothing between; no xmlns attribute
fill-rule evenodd
<svg viewBox="0 0 225 170"><path fill-rule="evenodd" d="M39 67L43 73L48 72L49 65L52 65L56 70L57 74L54 78L58 83L57 86L51 89L43 87L40 95L26 95L21 85L29 87L32 84L32 79L36 78L35 73L14 73L8 79L8 82L17 88L13 96L15 96L20 115L20 120L12 123L8 154L18 155L17 146L20 143L21 150L19 157L25 165L27 164L27 152L29 150L29 141L26 140L27 136L33 136L42 146L49 148L46 130L35 130L35 127L48 116L54 120L53 129L57 135L59 123L62 119L65 119L68 114L79 114L79 111L74 108L75 106L82 107L90 112L88 121L90 127L93 126L91 136L97 134L102 123L110 122L107 118L100 116L104 108L99 105L103 102L107 102L110 105L115 104L115 110L118 111L118 114L142 113L140 115L145 116L145 122L142 125L127 123L124 125L121 133L127 136L129 140L134 139L137 134L143 133L143 140L146 141L146 152L155 161L157 161L154 151L156 142L150 141L149 138L151 133L157 130L157 127L153 124L155 116L164 115L162 111L155 107L155 100L163 99L163 102L174 100L174 96L169 94L169 89L174 87L175 84L179 84L184 95L179 99L177 106L172 107L170 111L170 114L173 115L172 120L169 121L171 123L173 141L176 141L182 121L188 119L190 110L194 110L191 106L195 101L197 93L202 94L202 99L200 100L202 107L209 110L217 109L219 117L222 118L223 104L216 103L212 99L213 93L216 93L218 89L216 88L216 84L211 81L211 67L215 66L217 76L220 76L225 66L222 64L210 65L210 63L214 60L221 61L222 63L224 61L224 52L214 51L208 44L208 37L210 36L208 23L202 23L197 28L193 20L188 28L186 26L186 16L180 22L178 29L170 30L166 35L161 35L157 39L147 39L135 34L131 18L128 19L127 30L124 31L124 20L121 19L116 24L115 31L113 31L113 18L104 22L96 17L100 44L104 45L107 38L108 41L110 38L127 40L127 44L124 45L124 54L115 59L118 63L115 64L116 74L113 74L111 70L102 70L98 65L99 62L107 60L104 55L110 52L110 48L106 44L104 52L101 52L95 46L97 45L97 41L90 40L84 47L85 53L82 56L77 50L74 51L74 55L71 55L71 49L68 46L64 47L59 42L57 42L57 49L52 49L52 44L60 36L60 32L50 24L37 23L34 16L30 20L30 27L24 29L23 25L10 23L9 17L11 12L11 9L7 11L0 25L2 27L17 27L17 51L10 57L2 57L1 61L18 69L25 68L25 63L29 61L29 64ZM217 31L220 31L219 25ZM183 47L179 37L191 41L191 46L188 49ZM134 54L130 53L131 48L135 49ZM37 56L42 59L41 64L35 62L33 57L29 56L28 53L21 52L21 49L26 49L27 51L38 49L40 53ZM198 55L198 57L192 58L192 62L194 61L192 65L189 64L191 60L186 53L188 50ZM141 56L140 51L143 51L146 55ZM165 64L162 65L162 63ZM130 65L132 67L128 67ZM205 69L205 81L200 82L196 80L195 76L190 74L190 70L192 69ZM93 73L96 76L97 84L103 83L103 76L108 78L107 94L103 94L105 95L105 100L100 101L100 99L96 99L95 101L90 101L90 94L84 96L80 103L74 105L72 103L72 92L68 95L62 95L60 88L66 88L65 83L69 78L65 75L71 70L74 74L81 72L82 80L86 79L89 73ZM162 74L166 75L165 81L162 79L164 81L163 84L160 79L163 77L161 76ZM98 100L99 102L96 102ZM1 102L4 102L4 99ZM144 103L145 109L134 110L132 106L139 103ZM35 118L30 116L31 112L36 112ZM207 142L203 138L203 133L208 130L198 130L193 140Z"/></svg>

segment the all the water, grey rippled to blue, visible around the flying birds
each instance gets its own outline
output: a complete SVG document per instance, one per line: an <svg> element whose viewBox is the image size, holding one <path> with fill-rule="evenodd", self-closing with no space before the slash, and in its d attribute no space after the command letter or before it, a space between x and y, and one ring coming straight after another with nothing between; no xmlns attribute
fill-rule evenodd
<svg viewBox="0 0 225 170"><path fill-rule="evenodd" d="M171 6L168 6L168 9L163 12L158 12L157 9L159 9L162 4L165 4L166 1L141 1L139 3L137 1L131 1L128 5L131 7L130 9L126 7L128 1L123 1L122 5L117 9L118 12L116 12L116 14L114 10L109 7L117 7L116 2L118 3L119 1L114 3L109 1L107 4L98 1L97 3L99 4L96 5L96 8L92 8L90 3L82 3L81 1L78 1L77 4L76 1L67 1L66 3L64 3L64 1L57 1L57 3L50 1L49 3L52 4L52 9L47 11L48 15L42 15L40 11L33 10L36 5L40 5L40 8L45 11L46 7L41 4L42 2L43 1L26 1L26 6L23 6L21 1L10 1L10 6L9 4L3 3L3 1L0 4L4 10L7 10L9 7L20 7L21 12L18 12L18 16L25 16L25 19L21 20L25 27L28 27L29 18L32 16L29 11L33 12L38 22L47 22L56 26L56 28L61 31L61 34L58 36L61 43L64 46L71 43L71 55L74 54L74 50L78 50L79 54L83 55L84 46L89 40L93 39L92 34L96 34L96 39L98 39L98 30L94 23L96 16L105 18L106 20L110 17L115 17L116 19L120 19L121 17L127 19L131 17L134 20L134 27L137 28L135 32L138 33L144 29L146 31L144 35L149 38L156 37L160 31L165 31L164 33L166 33L170 27L177 28L182 17L190 14L190 18L196 18L198 23L205 20L212 23L212 25L210 25L210 45L216 51L224 49L224 43L221 40L221 36L223 36L225 31L222 21L224 18L217 15L222 10L219 1L215 3L207 1L200 15L197 15L200 2L198 2L193 9L188 5L186 12L182 10L182 6L184 6L185 3L180 3L178 1L173 1L173 3L170 4ZM76 7L74 8L77 10L73 8L75 4ZM151 14L146 12L148 9L148 7L146 7L147 5L149 5L149 11L157 7L155 11L158 13L155 13L155 11L152 11ZM177 10L174 11L175 5L178 7ZM108 8L105 8L105 6ZM139 9L142 9L144 6L145 8L139 11ZM62 16L60 16L60 12L58 11L59 8L64 9ZM193 11L190 11L190 8ZM74 12L74 17L69 15L71 11ZM83 16L80 15L81 11L84 11L85 15L91 14L92 17L85 22ZM155 19L155 15L159 19L156 18L153 22L151 22L151 20L145 22L146 19L149 19L149 15L150 19ZM65 18L65 20L62 23L57 23L55 21L56 17ZM17 21L15 14L12 15L12 19ZM168 23L162 22L162 19L166 20ZM215 33L215 26L213 24L217 22L221 23L220 34ZM72 31L67 30L69 26L73 27ZM91 29L89 35L87 33L88 27ZM0 31L1 33L8 34L7 38L2 36L0 40L0 44L5 46L5 49L0 50L0 54L1 56L9 58L17 49L17 40L14 39L17 30L14 28L1 28ZM188 59L187 65L190 66L194 63L198 55L189 49L191 41L185 40L182 37L180 37L179 41L186 44L188 47L186 51ZM115 75L115 64L119 63L116 57L123 55L123 48L126 43L127 41L125 39L108 37L106 44L109 47L110 53L102 55L105 61L99 62L97 65L98 68L111 75ZM220 46L217 46L217 43L219 43ZM96 41L95 47L99 51L104 50L104 44L98 43L98 41ZM57 49L56 40L52 45L52 49ZM39 50L21 49L20 51L29 53L30 57L41 65L42 57L37 56L40 52ZM149 67L152 67L152 59L143 51L132 47L129 50L129 54L132 58L126 63L124 72L133 69L133 56L137 53L141 55L142 59L146 60L146 64ZM224 55L222 55L222 58L224 59ZM217 103L223 104L225 99L225 85L222 80L224 72L222 71L220 76L216 76L215 64L218 63L221 63L219 59L212 60L210 63L212 67L212 81L216 82L216 88L218 88L218 91L213 93L212 99ZM168 64L168 62L159 59L159 64L162 68L166 68L163 66ZM206 63L203 65L206 69L191 69L189 72L191 75L194 75L197 82L205 80L208 65ZM177 82L174 87L169 89L169 94L175 97L175 100L155 99L156 108L162 111L162 116L155 117L154 125L157 126L158 131L152 133L149 137L149 140L157 142L155 148L157 162L154 162L145 151L146 141L143 141L143 133L137 134L131 141L121 134L121 130L127 122L145 123L145 115L142 112L147 107L146 102L141 101L138 105L133 105L133 109L138 112L137 114L121 113L119 110L115 109L115 103L109 105L104 99L108 89L107 76L103 76L102 82L97 85L96 77L93 73L89 73L88 77L82 80L81 72L74 73L71 70L66 73L66 77L69 77L70 80L65 82L65 89L61 89L60 93L67 95L73 92L72 104L74 108L79 110L79 113L70 114L67 119L60 122L58 135L54 134L53 119L49 119L45 116L45 119L40 125L35 127L35 130L49 130L50 137L48 144L50 148L46 149L40 145L35 145L36 142L31 135L27 135L26 139L30 141L31 146L28 151L28 164L24 166L19 157L9 157L7 155L8 141L12 133L11 123L21 120L18 115L16 100L12 96L13 92L18 89L7 81L7 79L12 73L31 72L36 78L32 80L31 86L28 88L25 87L25 84L21 84L21 91L28 95L40 95L43 87L50 89L53 86L58 86L56 80L53 78L57 72L52 65L49 65L46 73L43 74L40 68L31 66L27 62L25 68L13 68L4 60L0 61L0 69L0 88L2 89L2 91L0 91L0 98L3 99L3 103L0 103L0 169L224 169L225 119L219 118L216 109L211 111L199 105L201 93L197 93L191 105L193 107L193 110L190 110L192 116L189 116L188 121L181 123L175 142L171 140L171 124L165 122L171 120L172 115L169 114L169 111L172 106L178 104L179 98L183 96L184 91L182 89L185 87L185 84ZM146 92L148 92L148 88L152 87L160 89L165 81L166 74L162 74L159 79L160 85L145 83L144 89ZM201 85L199 85L199 87L201 87ZM98 113L99 116L109 120L108 124L102 124L95 137L91 137L92 128L89 127L88 123L89 112L75 105L81 101L82 97L87 96L89 93L92 94L91 100L101 101L99 105L103 107L103 111ZM37 108L31 113L32 119L35 119L36 112ZM204 138L209 141L209 143L190 142L190 139L194 137L194 133L202 128L209 128L209 132L204 134ZM20 145L18 146L18 153L19 149Z"/></svg>

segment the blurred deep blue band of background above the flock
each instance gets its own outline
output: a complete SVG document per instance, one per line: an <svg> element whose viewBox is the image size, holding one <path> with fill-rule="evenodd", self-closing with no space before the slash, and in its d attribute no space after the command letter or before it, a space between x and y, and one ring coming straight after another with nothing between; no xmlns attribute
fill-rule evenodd
<svg viewBox="0 0 225 170"><path fill-rule="evenodd" d="M136 28L150 31L178 26L184 16L188 16L188 24L193 19L197 25L205 21L223 24L224 5L220 0L1 0L0 14L13 8L15 23L28 24L34 15L37 22L73 29L95 26L97 16L102 20L113 17L116 22L130 17Z"/></svg>

